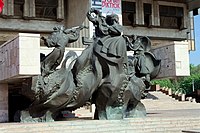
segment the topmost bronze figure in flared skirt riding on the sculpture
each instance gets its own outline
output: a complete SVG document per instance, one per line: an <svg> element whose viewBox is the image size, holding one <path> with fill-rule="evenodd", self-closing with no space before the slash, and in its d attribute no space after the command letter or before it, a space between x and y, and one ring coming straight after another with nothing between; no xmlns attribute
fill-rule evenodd
<svg viewBox="0 0 200 133"><path fill-rule="evenodd" d="M122 26L119 24L118 16L111 14L104 17L101 12L92 8L87 17L95 27L94 51L111 62L126 63L126 42L121 36Z"/></svg>

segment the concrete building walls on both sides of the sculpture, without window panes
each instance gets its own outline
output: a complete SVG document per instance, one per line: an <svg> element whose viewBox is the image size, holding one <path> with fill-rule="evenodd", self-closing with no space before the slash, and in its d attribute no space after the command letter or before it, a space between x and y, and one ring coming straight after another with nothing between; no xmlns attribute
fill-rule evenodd
<svg viewBox="0 0 200 133"><path fill-rule="evenodd" d="M7 0L10 1L10 0ZM31 0L32 1L32 0ZM136 3L136 25L134 26L124 26L123 34L134 34L137 36L148 36L151 38L153 45L166 46L173 42L174 40L187 40L187 33L190 32L188 28L188 11L185 3L179 2L168 2L168 1L155 1L155 0L123 0L129 2ZM175 0L174 0L175 1ZM38 32L43 34L44 36L48 36L48 33L52 31L54 26L65 25L66 27L72 27L77 25L85 25L89 26L89 21L86 18L86 12L90 8L90 0L67 0L60 2L60 10L58 12L58 21L46 21L46 20L35 20L31 19L34 17L34 12L27 14L26 16L30 16L29 19L16 19L16 18L0 18L0 38L2 40L7 40L13 37L18 32ZM5 2L6 3L6 2ZM64 6L62 5L64 3ZM143 4L149 3L152 5L152 14L151 14L151 27L144 26L144 10ZM159 15L159 6L176 6L182 7L184 10L183 16L183 29L169 29L169 28L161 28L160 26L160 15ZM29 3L26 3L25 7L30 6ZM5 7L11 7L12 3L9 5L5 5ZM64 13L62 12L62 8L64 8ZM12 14L11 9L6 9L4 13ZM123 17L123 16L122 16ZM62 20L63 19L63 20ZM4 25L4 26L3 26ZM188 29L187 29L188 28ZM5 31L5 32L4 32ZM80 36L91 37L89 30L82 30ZM12 33L12 34L11 34ZM0 39L0 41L1 41ZM155 42L155 43L154 43ZM82 45L82 38L80 38L77 42L73 44L69 44L69 47L73 48L84 48Z"/></svg>

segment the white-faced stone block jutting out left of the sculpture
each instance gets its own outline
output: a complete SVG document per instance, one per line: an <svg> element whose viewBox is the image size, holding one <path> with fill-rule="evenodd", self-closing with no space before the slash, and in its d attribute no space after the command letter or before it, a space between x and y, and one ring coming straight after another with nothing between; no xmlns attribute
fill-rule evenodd
<svg viewBox="0 0 200 133"><path fill-rule="evenodd" d="M0 51L0 82L40 74L39 34L19 33L1 45Z"/></svg>

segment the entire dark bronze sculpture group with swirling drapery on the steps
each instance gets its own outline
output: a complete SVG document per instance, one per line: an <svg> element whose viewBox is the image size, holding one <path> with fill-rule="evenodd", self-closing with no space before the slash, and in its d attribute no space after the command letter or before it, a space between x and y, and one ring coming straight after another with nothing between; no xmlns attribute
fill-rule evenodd
<svg viewBox="0 0 200 133"><path fill-rule="evenodd" d="M89 99L96 105L96 119L146 115L140 99L160 67L149 39L130 41L131 37L122 36L116 14L104 17L91 8L87 17L95 26L95 36L85 42L88 47L80 56L70 51L62 62L65 46L79 38L84 26L55 28L48 39L42 38L54 50L41 61L41 75L32 82L34 102L21 112L21 121L53 121L60 111L74 110ZM135 54L128 57L127 49Z"/></svg>

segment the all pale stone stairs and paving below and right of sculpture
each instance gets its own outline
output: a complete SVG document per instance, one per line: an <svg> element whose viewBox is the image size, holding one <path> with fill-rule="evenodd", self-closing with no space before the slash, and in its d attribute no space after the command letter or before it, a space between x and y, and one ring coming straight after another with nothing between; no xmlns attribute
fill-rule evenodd
<svg viewBox="0 0 200 133"><path fill-rule="evenodd" d="M200 133L200 104L179 102L162 92L150 92L142 100L147 117L124 120L83 120L92 114L85 108L76 118L47 123L1 123L0 133Z"/></svg>

